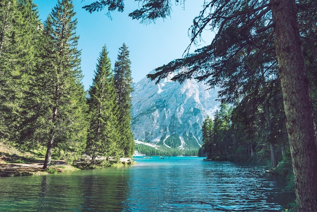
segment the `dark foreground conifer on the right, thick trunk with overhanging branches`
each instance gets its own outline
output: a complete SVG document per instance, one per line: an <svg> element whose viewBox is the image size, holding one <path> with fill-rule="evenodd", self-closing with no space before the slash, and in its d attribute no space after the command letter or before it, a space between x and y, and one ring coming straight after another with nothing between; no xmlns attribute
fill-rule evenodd
<svg viewBox="0 0 317 212"><path fill-rule="evenodd" d="M133 19L144 23L170 15L170 0L139 2L140 9L129 14ZM97 1L98 7L93 9L92 4L85 9L92 12L108 7L109 11L121 11L123 8L109 6L123 3ZM313 70L316 61L312 53L317 40L316 8L312 0L206 0L189 29L188 48L205 29L215 31L211 44L148 75L157 82L174 72L175 81L194 77L221 87L220 95L230 101L243 98L250 90L256 95L257 89L280 82L300 211L317 208L317 184L313 180L317 178L317 140L306 74L306 66L308 71ZM187 68L181 69L183 66ZM308 74L314 79L314 74Z"/></svg>

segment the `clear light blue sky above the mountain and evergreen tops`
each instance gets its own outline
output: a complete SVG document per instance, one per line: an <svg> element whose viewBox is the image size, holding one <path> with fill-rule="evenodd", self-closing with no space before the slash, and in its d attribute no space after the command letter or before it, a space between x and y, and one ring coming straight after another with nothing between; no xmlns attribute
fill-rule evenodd
<svg viewBox="0 0 317 212"><path fill-rule="evenodd" d="M39 16L45 21L56 6L57 0L33 0L38 6ZM125 1L125 12L111 12L112 20L106 15L107 10L89 12L83 6L93 0L73 0L78 21L76 33L80 36L78 49L82 50L83 83L88 89L94 78L97 58L103 45L106 45L112 68L117 59L118 50L125 43L130 51L131 71L134 82L138 82L156 67L181 58L190 43L188 28L195 16L199 15L204 0L187 0L184 7L174 5L171 18L156 20L148 25L140 24L128 16L139 6L133 0ZM179 1L181 2L181 1ZM172 0L175 4L175 1ZM207 32L201 43L210 44L212 33ZM192 46L193 52L197 47Z"/></svg>

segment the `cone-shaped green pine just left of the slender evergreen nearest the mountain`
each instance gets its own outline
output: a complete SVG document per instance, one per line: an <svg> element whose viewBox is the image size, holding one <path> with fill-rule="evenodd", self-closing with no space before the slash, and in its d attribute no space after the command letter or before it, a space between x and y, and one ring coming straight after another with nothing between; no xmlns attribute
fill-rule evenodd
<svg viewBox="0 0 317 212"><path fill-rule="evenodd" d="M113 73L106 46L100 52L89 96L90 128L86 152L92 156L93 164L97 156L120 156L116 144L118 135Z"/></svg>

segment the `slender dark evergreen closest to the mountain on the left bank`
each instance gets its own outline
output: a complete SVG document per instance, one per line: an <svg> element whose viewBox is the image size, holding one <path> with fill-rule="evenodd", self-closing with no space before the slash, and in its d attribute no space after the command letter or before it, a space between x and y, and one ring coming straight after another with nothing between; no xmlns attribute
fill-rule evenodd
<svg viewBox="0 0 317 212"><path fill-rule="evenodd" d="M117 61L114 63L114 87L118 105L118 129L120 131L120 147L126 157L134 153L135 145L131 131L131 92L132 77L130 69L129 50L126 44L119 49Z"/></svg>

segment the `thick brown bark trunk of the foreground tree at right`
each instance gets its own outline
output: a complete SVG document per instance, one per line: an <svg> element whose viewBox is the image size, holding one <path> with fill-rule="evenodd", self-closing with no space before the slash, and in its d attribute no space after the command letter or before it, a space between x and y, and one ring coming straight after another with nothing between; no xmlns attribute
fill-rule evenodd
<svg viewBox="0 0 317 212"><path fill-rule="evenodd" d="M317 211L317 141L295 1L271 0L299 211Z"/></svg>

